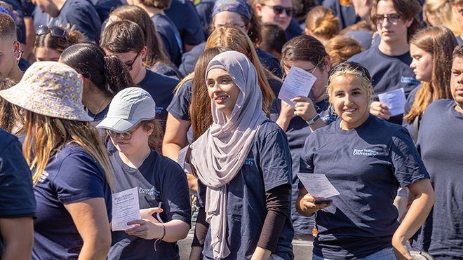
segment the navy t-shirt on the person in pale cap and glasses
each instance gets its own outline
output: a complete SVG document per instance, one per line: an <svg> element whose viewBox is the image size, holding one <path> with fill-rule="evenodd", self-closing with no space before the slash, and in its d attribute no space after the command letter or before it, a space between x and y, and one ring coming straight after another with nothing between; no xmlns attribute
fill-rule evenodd
<svg viewBox="0 0 463 260"><path fill-rule="evenodd" d="M137 188L140 209L158 207L164 223L173 219L191 222L191 205L187 177L173 160L152 151L138 168L132 168L121 160L119 152L111 156L114 170L113 193ZM112 232L112 247L108 259L180 259L177 242L145 240L124 231Z"/></svg>

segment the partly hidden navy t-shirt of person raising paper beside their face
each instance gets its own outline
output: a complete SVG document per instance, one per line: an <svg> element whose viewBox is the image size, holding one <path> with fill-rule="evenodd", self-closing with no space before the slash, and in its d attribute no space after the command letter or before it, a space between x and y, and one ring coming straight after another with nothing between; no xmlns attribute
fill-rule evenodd
<svg viewBox="0 0 463 260"><path fill-rule="evenodd" d="M328 100L321 100L315 104L315 109L326 125L335 121L335 116L328 112L330 103ZM273 106L271 107L270 118L272 121L278 119L281 111L281 100L276 99ZM294 116L291 119L288 129L286 130L286 136L288 137L288 143L291 152L291 158L293 160L293 189L292 197L293 202L291 203L291 214L293 218L294 234L295 235L307 235L311 234L311 229L314 226L313 217L304 217L296 210L296 200L299 196L299 178L297 178L297 172L300 171L300 157L302 147L304 146L305 139L310 135L311 130L306 121L300 116Z"/></svg>

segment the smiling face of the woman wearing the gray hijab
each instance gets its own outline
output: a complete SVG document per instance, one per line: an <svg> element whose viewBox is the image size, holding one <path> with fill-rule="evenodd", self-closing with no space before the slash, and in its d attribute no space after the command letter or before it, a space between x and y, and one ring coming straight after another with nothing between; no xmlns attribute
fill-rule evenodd
<svg viewBox="0 0 463 260"><path fill-rule="evenodd" d="M240 93L230 74L224 69L210 69L206 76L206 85L215 107L230 118Z"/></svg>

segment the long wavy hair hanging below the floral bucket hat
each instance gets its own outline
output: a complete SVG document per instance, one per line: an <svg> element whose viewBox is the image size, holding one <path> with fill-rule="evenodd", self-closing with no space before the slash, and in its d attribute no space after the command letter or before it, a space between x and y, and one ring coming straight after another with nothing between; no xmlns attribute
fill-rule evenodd
<svg viewBox="0 0 463 260"><path fill-rule="evenodd" d="M54 152L66 144L77 144L86 150L101 165L107 182L112 184L112 168L102 138L91 122L72 121L42 116L27 111L25 116L25 142L22 151L36 184ZM72 167L72 165L71 165Z"/></svg>

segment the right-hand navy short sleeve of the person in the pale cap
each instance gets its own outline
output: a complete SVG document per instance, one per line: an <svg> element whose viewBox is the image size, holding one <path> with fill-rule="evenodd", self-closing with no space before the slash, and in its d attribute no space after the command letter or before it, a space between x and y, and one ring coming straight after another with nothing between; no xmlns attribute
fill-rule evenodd
<svg viewBox="0 0 463 260"><path fill-rule="evenodd" d="M178 219L191 225L192 207L189 204L188 182L180 166L166 168L161 194L168 221Z"/></svg>

